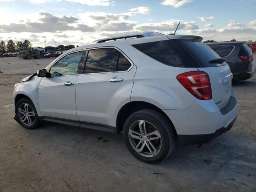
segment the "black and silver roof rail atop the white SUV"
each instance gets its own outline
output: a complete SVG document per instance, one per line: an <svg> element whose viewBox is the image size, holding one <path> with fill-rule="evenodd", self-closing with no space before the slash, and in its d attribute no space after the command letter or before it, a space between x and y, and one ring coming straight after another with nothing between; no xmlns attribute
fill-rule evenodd
<svg viewBox="0 0 256 192"><path fill-rule="evenodd" d="M99 40L96 40L92 43L103 43L103 42L115 41L115 40L119 40L119 39L142 38L142 37L160 36L160 35L164 35L164 34L158 33L158 32L144 32L144 33L139 33L139 34L127 35L127 36L118 36L118 37L110 37L110 38L99 39Z"/></svg>

